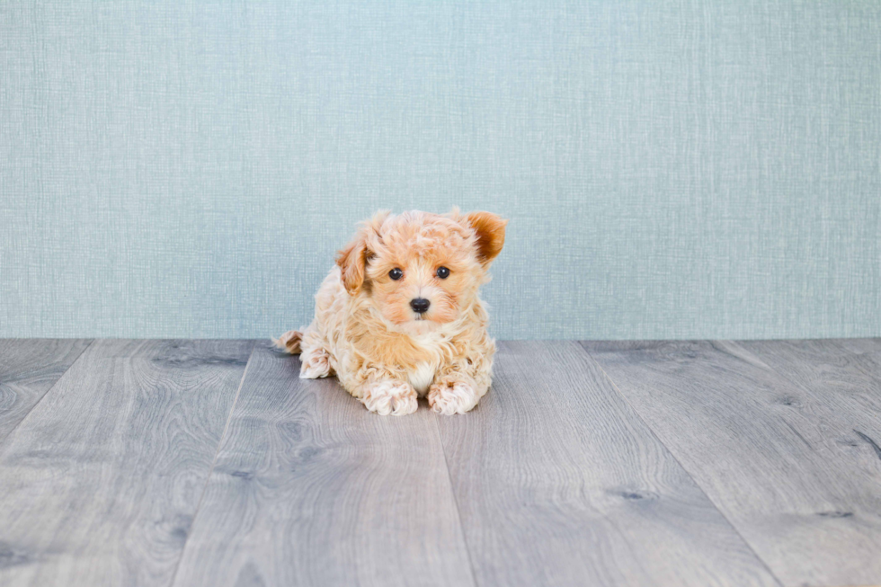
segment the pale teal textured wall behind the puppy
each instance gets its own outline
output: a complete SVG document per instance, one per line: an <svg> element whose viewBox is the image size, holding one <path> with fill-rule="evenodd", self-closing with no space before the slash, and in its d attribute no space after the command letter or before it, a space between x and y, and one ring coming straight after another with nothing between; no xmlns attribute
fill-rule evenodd
<svg viewBox="0 0 881 587"><path fill-rule="evenodd" d="M881 3L0 3L0 336L278 334L454 204L503 338L881 335Z"/></svg>

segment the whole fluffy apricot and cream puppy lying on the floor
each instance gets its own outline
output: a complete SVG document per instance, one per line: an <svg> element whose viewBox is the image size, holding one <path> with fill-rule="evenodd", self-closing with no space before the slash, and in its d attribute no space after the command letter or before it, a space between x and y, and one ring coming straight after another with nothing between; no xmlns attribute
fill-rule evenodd
<svg viewBox="0 0 881 587"><path fill-rule="evenodd" d="M336 374L371 412L404 415L428 395L465 414L489 389L495 342L477 290L504 245L503 220L379 212L336 257L312 324L276 344L301 353L301 378Z"/></svg>

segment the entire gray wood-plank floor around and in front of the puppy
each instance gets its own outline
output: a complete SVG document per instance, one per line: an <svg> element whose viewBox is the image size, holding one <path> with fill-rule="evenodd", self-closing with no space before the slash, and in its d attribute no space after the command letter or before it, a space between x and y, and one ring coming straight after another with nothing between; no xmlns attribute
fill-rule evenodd
<svg viewBox="0 0 881 587"><path fill-rule="evenodd" d="M503 342L452 417L298 368L0 340L0 585L881 583L881 340Z"/></svg>

